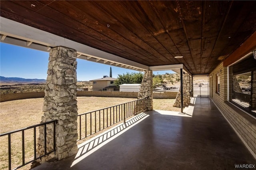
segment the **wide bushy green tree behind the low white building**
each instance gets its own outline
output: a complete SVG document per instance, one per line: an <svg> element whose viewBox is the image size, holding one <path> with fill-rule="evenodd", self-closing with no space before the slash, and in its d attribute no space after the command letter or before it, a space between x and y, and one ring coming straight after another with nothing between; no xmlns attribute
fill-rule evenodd
<svg viewBox="0 0 256 170"><path fill-rule="evenodd" d="M117 79L114 81L116 86L121 84L136 84L141 83L143 79L143 73L126 73L126 74L118 74Z"/></svg>

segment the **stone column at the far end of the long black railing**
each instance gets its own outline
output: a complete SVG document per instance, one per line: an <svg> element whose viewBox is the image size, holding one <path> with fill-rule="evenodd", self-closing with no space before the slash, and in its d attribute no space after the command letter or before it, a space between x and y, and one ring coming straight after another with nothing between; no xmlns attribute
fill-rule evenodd
<svg viewBox="0 0 256 170"><path fill-rule="evenodd" d="M138 93L138 99L148 97L148 110L153 110L153 71L145 71Z"/></svg>

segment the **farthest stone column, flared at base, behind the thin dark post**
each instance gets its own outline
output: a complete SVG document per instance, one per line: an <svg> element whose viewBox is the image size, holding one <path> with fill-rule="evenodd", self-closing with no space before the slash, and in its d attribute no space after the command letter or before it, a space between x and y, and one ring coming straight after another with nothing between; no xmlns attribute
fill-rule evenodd
<svg viewBox="0 0 256 170"><path fill-rule="evenodd" d="M190 103L190 78L189 78L189 73L183 74L183 107L186 107ZM182 88L182 87L180 87ZM175 102L173 104L173 107L181 107L181 99L180 99L180 90L177 93Z"/></svg>

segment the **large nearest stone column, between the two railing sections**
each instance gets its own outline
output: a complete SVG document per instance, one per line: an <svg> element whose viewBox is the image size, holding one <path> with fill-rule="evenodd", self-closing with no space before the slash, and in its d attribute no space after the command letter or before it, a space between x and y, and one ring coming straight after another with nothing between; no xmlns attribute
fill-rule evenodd
<svg viewBox="0 0 256 170"><path fill-rule="evenodd" d="M77 79L76 50L54 47L50 51L45 97L41 123L58 120L56 123L56 155L54 152L42 157L40 162L51 158L61 160L76 154L77 134ZM53 125L47 125L47 151L53 149ZM44 127L39 128L37 156L44 154Z"/></svg>

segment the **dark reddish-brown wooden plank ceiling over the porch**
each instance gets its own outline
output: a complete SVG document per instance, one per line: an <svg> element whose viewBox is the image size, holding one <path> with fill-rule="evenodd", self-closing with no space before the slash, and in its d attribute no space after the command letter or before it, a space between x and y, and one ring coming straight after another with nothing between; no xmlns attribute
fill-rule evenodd
<svg viewBox="0 0 256 170"><path fill-rule="evenodd" d="M208 74L256 31L256 1L0 1L0 15L155 66ZM174 56L182 55L176 59Z"/></svg>

